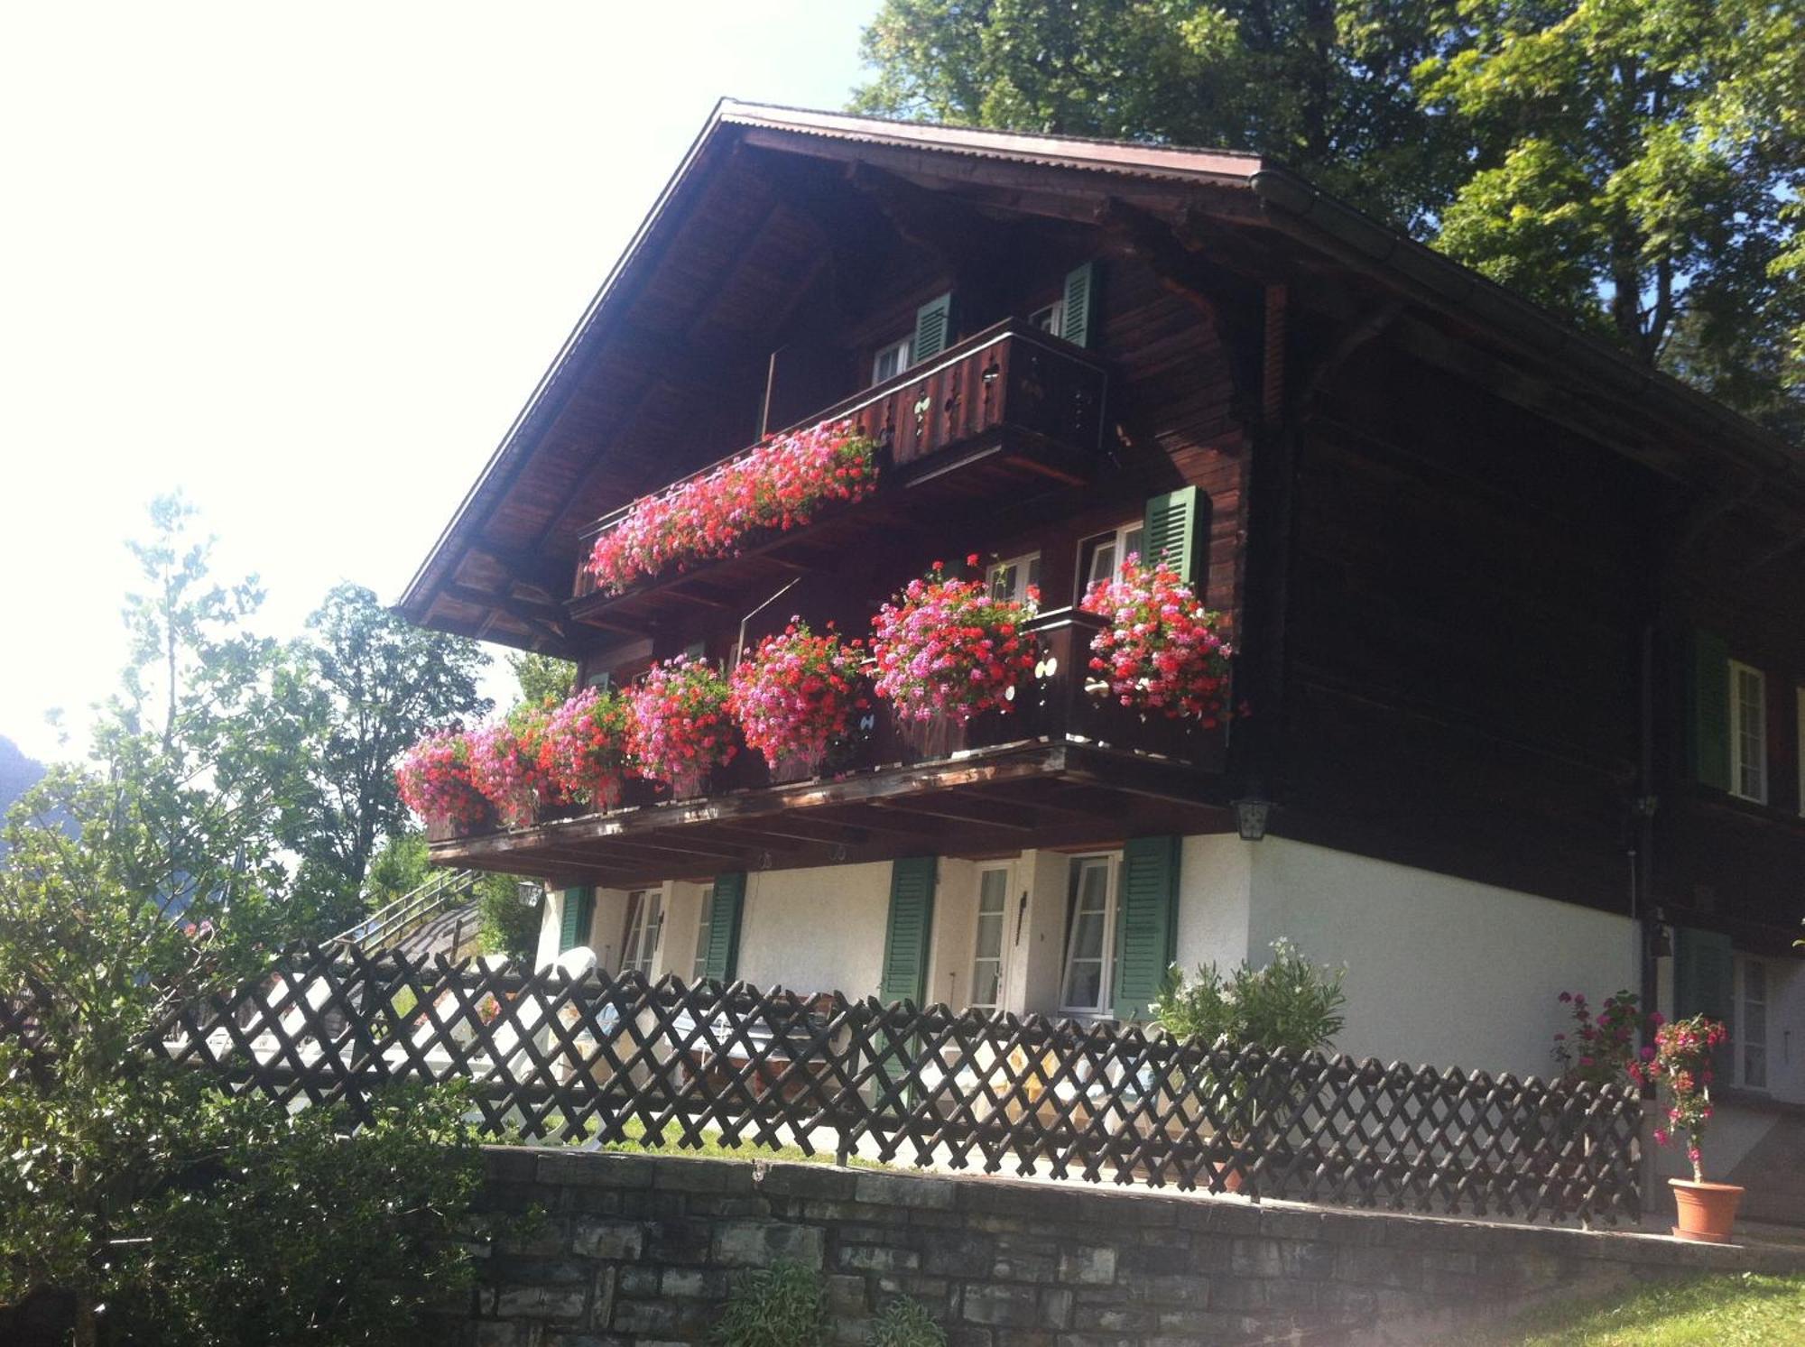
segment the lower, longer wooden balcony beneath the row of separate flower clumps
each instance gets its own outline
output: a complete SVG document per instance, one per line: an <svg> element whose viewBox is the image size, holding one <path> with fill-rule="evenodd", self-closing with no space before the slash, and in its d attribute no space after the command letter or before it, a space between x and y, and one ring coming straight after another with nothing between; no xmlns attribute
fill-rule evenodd
<svg viewBox="0 0 1805 1347"><path fill-rule="evenodd" d="M484 836L437 832L433 859L630 887L729 869L1226 831L1222 729L1143 719L1099 697L1087 672L1096 628L1072 608L1038 618L1034 677L1009 715L904 726L877 702L819 776L774 778L758 755L742 753L695 798L641 784L605 814Z"/></svg>

